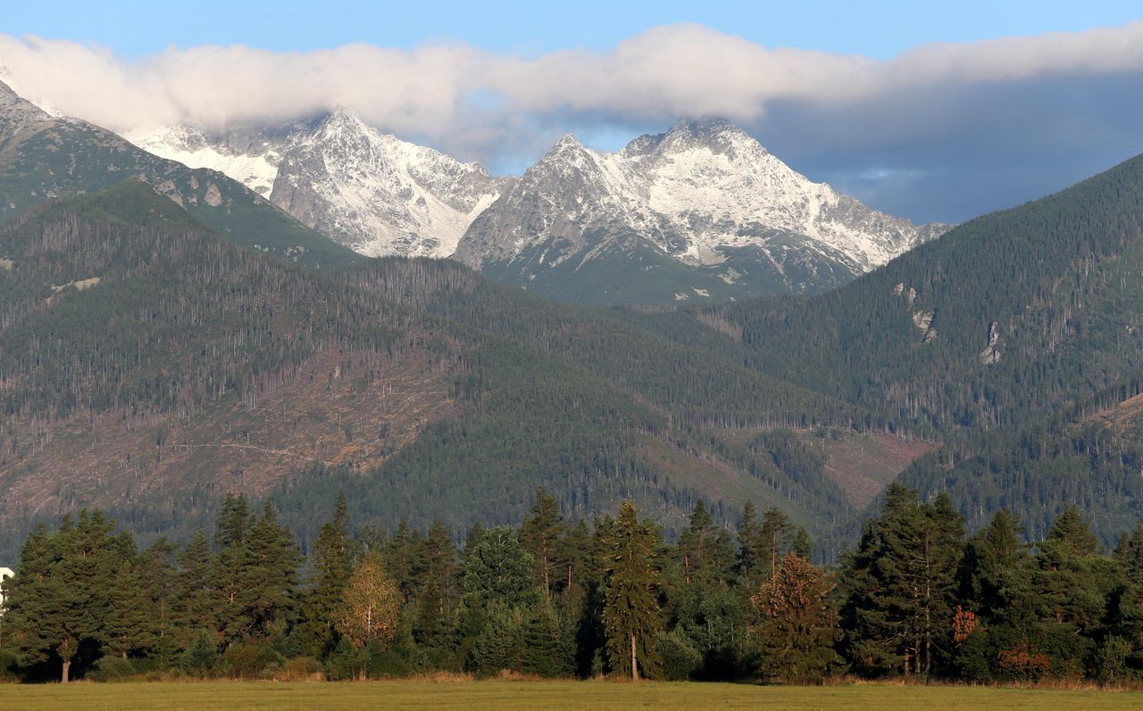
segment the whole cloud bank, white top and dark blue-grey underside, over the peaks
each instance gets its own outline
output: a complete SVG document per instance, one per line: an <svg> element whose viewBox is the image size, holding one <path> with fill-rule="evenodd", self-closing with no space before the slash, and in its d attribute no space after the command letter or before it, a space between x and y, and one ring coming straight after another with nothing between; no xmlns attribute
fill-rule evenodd
<svg viewBox="0 0 1143 711"><path fill-rule="evenodd" d="M537 56L359 43L307 52L170 48L125 60L102 47L0 34L0 63L25 94L119 131L345 106L384 130L494 165L535 159L568 128L633 135L679 116L725 116L812 177L925 219L1032 197L1143 148L1134 120L1143 23L925 45L888 60L767 48L681 24L609 51ZM1023 180L1005 168L1014 162L1026 167ZM1018 185L977 195L981 176ZM958 195L933 197L950 189Z"/></svg>

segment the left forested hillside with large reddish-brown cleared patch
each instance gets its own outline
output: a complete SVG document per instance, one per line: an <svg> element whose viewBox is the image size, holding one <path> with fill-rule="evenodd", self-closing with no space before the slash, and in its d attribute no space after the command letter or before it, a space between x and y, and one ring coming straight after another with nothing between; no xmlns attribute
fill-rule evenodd
<svg viewBox="0 0 1143 711"><path fill-rule="evenodd" d="M672 527L700 498L720 520L754 499L815 531L853 510L820 464L700 429L852 409L458 265L307 270L139 183L25 213L0 253L14 531L99 503L182 538L241 491L273 495L305 541L335 484L363 519L454 532L519 516L537 484L576 518L633 498Z"/></svg>

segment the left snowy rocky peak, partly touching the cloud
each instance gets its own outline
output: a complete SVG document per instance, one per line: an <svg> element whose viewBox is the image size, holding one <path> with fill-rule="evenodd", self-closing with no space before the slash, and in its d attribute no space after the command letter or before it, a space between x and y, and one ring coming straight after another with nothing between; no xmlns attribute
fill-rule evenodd
<svg viewBox="0 0 1143 711"><path fill-rule="evenodd" d="M133 135L139 147L242 181L309 227L370 257L448 257L510 179L381 134L339 110L317 121Z"/></svg>

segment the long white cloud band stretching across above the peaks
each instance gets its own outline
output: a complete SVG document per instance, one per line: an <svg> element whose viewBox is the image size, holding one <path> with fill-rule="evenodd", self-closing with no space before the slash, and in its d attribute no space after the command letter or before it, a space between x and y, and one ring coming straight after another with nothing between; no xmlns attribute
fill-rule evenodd
<svg viewBox="0 0 1143 711"><path fill-rule="evenodd" d="M293 118L345 105L391 130L435 135L505 113L753 121L781 99L845 102L949 82L1141 70L1143 23L928 45L888 62L768 49L690 24L648 30L607 52L535 58L465 45L349 45L309 52L205 46L128 62L102 47L0 34L0 62L29 91L117 130L178 120ZM494 108L490 96L498 99Z"/></svg>

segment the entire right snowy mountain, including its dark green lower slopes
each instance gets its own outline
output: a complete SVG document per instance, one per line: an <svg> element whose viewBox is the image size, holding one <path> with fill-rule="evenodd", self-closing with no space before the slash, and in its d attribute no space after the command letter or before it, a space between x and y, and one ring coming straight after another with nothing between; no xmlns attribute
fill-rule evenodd
<svg viewBox="0 0 1143 711"><path fill-rule="evenodd" d="M572 136L465 233L456 258L586 304L813 292L946 229L815 184L725 121L597 153Z"/></svg>

